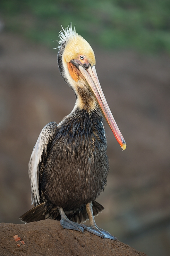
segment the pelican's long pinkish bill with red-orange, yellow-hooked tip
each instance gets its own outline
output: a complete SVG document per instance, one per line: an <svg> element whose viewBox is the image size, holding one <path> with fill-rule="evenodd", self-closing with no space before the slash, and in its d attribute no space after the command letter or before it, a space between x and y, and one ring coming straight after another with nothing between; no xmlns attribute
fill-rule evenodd
<svg viewBox="0 0 170 256"><path fill-rule="evenodd" d="M111 110L109 109L106 98L98 80L95 66L91 67L90 65L86 70L81 65L79 65L77 68L81 73L79 73L79 75L81 75L81 77L88 84L90 90L94 94L98 102L99 108L103 116L105 117L108 125L110 126L112 132L114 133L117 142L122 147L122 150L126 149L126 142L115 122Z"/></svg>

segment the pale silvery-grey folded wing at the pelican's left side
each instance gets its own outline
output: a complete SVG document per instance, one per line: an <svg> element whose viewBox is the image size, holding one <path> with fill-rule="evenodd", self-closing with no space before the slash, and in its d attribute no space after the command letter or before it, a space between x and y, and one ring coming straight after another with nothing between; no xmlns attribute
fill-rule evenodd
<svg viewBox="0 0 170 256"><path fill-rule="evenodd" d="M38 180L39 166L44 159L44 155L47 157L47 148L55 136L56 128L57 124L55 122L50 122L42 129L28 164L28 173L31 184L31 200L32 204L34 203L35 206L41 203Z"/></svg>

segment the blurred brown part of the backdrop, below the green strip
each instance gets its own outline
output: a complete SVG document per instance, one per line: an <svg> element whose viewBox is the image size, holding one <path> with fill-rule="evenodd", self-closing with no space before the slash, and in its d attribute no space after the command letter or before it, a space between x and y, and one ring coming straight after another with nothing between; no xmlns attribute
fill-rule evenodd
<svg viewBox="0 0 170 256"><path fill-rule="evenodd" d="M110 173L97 200L106 210L96 222L148 256L168 256L170 57L93 48L99 81L127 143L122 152L105 125ZM57 50L0 34L0 222L20 223L32 207L32 148L41 129L59 123L74 103L58 71Z"/></svg>

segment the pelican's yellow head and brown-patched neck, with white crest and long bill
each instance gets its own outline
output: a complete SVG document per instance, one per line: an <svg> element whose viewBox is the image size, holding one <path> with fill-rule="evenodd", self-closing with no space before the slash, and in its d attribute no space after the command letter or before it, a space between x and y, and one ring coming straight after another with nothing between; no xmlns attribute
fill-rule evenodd
<svg viewBox="0 0 170 256"><path fill-rule="evenodd" d="M76 33L71 24L59 33L59 37L59 70L64 81L76 95L75 107L92 111L98 105L116 140L124 150L125 140L109 109L98 80L93 49L81 35Z"/></svg>

